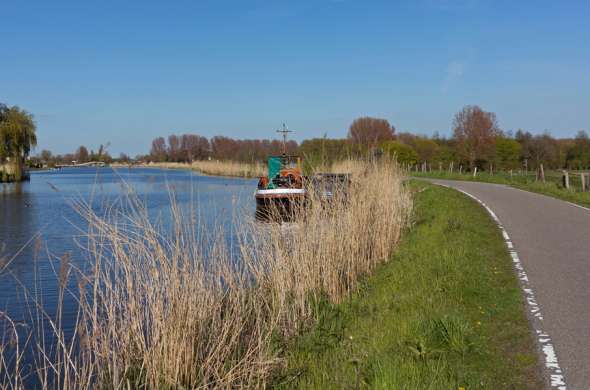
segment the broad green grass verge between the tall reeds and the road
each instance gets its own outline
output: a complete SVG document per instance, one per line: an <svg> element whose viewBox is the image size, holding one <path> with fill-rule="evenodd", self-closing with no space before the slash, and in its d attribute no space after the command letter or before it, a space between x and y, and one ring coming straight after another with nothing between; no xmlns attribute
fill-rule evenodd
<svg viewBox="0 0 590 390"><path fill-rule="evenodd" d="M537 354L510 256L473 200L411 182L412 229L391 261L280 345L277 388L537 389Z"/></svg>

